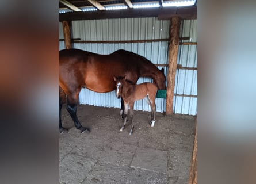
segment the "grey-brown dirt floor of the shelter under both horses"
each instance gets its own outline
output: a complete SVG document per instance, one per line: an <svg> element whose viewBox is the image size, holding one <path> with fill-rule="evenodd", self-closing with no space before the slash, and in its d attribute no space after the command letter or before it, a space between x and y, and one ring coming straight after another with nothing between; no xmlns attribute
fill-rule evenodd
<svg viewBox="0 0 256 184"><path fill-rule="evenodd" d="M134 112L123 132L119 109L79 105L78 118L91 133L74 127L66 106L59 137L59 182L76 183L188 183L193 151L194 116L156 113L150 127L150 112Z"/></svg>

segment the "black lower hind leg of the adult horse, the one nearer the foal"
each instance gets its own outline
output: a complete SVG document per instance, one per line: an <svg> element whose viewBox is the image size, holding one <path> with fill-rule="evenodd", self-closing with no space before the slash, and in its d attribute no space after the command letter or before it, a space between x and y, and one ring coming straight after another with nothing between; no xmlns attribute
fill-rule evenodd
<svg viewBox="0 0 256 184"><path fill-rule="evenodd" d="M77 101L78 101L78 99L77 99ZM70 99L69 96L67 98L67 111L68 111L68 113L70 113L70 116L71 116L72 120L74 121L75 127L77 129L80 129L81 133L83 133L85 131L90 132L89 128L82 127L81 123L79 122L78 117L77 117L77 103L76 103L76 100L72 99L72 97Z"/></svg>

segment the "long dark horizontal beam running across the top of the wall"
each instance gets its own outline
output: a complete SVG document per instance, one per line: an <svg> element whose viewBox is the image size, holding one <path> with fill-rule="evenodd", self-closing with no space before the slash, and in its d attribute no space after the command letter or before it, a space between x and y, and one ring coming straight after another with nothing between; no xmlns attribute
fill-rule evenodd
<svg viewBox="0 0 256 184"><path fill-rule="evenodd" d="M66 12L59 14L59 21L63 20L94 20L107 18L136 18L136 17L158 17L159 20L170 20L171 17L182 19L196 19L197 6L192 7L162 7L148 9L123 9L90 12Z"/></svg>

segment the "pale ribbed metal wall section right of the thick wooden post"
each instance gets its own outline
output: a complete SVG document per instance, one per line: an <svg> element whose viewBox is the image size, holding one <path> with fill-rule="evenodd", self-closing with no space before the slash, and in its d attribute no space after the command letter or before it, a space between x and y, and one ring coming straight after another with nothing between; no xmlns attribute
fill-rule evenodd
<svg viewBox="0 0 256 184"><path fill-rule="evenodd" d="M189 42L197 42L197 20L182 21L180 36L189 37ZM181 64L182 67L197 68L197 45L179 45L177 64ZM197 70L177 70L174 93L197 96ZM177 114L196 115L197 97L174 96L173 108L174 113Z"/></svg>

